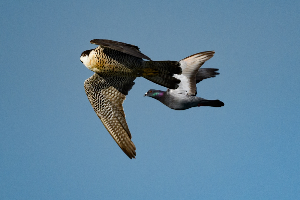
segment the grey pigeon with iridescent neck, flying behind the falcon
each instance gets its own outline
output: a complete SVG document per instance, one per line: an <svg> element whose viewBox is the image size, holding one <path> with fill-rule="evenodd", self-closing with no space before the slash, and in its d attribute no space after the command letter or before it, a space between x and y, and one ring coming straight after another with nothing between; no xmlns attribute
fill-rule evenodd
<svg viewBox="0 0 300 200"><path fill-rule="evenodd" d="M171 109L185 110L196 106L221 107L224 103L220 100L207 100L196 97L196 83L210 77L215 77L218 69L199 69L205 61L214 56L214 51L196 53L179 61L182 74L174 74L180 79L179 88L167 89L167 91L151 89L144 97L152 97L159 100Z"/></svg>

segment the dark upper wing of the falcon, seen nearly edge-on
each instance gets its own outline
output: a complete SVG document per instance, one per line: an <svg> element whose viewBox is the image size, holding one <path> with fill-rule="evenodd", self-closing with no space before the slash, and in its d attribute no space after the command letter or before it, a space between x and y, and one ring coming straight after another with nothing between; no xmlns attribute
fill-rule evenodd
<svg viewBox="0 0 300 200"><path fill-rule="evenodd" d="M129 55L133 55L138 58L144 58L146 60L151 60L148 56L140 52L140 48L133 44L126 44L123 42L117 42L113 40L91 40L90 43L97 44L100 46L108 47L111 49L115 49L117 51L127 53Z"/></svg>

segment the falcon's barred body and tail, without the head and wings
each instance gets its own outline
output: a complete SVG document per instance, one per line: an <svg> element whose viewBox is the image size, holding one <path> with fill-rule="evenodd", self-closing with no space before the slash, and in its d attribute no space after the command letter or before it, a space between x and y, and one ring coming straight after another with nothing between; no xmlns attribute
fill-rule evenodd
<svg viewBox="0 0 300 200"><path fill-rule="evenodd" d="M178 61L143 61L115 49L98 46L90 55L91 65L88 67L99 75L139 77L155 82L167 88L176 89L180 80L172 77L181 74Z"/></svg>

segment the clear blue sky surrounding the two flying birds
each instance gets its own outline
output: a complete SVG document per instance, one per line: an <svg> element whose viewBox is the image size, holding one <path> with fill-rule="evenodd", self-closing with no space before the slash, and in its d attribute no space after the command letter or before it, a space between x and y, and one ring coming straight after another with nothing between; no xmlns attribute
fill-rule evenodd
<svg viewBox="0 0 300 200"><path fill-rule="evenodd" d="M3 1L0 199L297 199L299 1ZM221 108L123 104L130 160L93 111L79 60L92 39L152 60L214 50L197 84Z"/></svg>

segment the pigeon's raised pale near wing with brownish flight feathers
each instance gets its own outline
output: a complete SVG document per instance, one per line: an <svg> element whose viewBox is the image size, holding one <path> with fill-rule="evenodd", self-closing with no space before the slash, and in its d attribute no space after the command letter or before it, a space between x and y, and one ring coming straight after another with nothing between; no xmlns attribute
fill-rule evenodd
<svg viewBox="0 0 300 200"><path fill-rule="evenodd" d="M205 51L179 61L182 74L174 74L174 77L181 81L176 92L194 96L196 94L196 74L202 64L213 56L214 51Z"/></svg>

